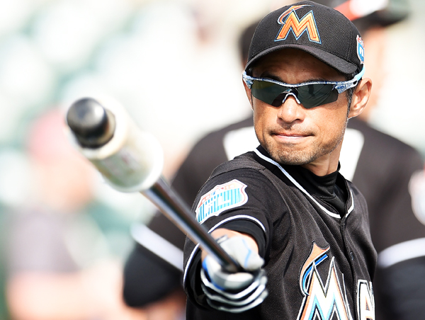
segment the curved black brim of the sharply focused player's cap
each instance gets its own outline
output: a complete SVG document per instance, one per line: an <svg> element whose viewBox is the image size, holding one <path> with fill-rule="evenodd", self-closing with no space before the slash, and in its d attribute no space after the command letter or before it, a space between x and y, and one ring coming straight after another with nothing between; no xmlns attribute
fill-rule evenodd
<svg viewBox="0 0 425 320"><path fill-rule="evenodd" d="M316 57L320 61L324 62L325 64L328 64L330 67L338 70L339 72L343 74L353 74L353 72L356 72L357 70L357 66L355 64L347 62L346 60L341 59L340 57L337 57L336 55L331 55L329 52L320 50L317 47L309 47L307 45L288 44L288 45L278 45L276 47L271 47L268 50L264 50L259 55L256 55L251 60L249 60L249 62L246 64L245 71L248 70L250 67L252 67L255 62L259 61L259 59L268 55L269 53L275 52L277 50L287 49L287 48L299 49L307 53L310 53L310 55L312 55L313 57Z"/></svg>

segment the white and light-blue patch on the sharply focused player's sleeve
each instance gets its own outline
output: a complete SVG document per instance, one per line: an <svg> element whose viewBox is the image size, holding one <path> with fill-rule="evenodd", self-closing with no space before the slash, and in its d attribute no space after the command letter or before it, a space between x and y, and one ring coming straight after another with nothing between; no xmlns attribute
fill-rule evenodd
<svg viewBox="0 0 425 320"><path fill-rule="evenodd" d="M196 206L196 220L203 223L209 217L244 205L248 201L246 185L236 179L222 185L216 185L209 193L203 195Z"/></svg>

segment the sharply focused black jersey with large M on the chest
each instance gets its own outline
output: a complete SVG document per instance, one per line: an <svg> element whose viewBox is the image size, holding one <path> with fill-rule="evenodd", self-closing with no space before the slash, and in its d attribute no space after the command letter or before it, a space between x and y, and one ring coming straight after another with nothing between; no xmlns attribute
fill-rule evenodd
<svg viewBox="0 0 425 320"><path fill-rule="evenodd" d="M237 316L204 309L200 250L187 239L188 320L374 319L376 253L366 204L337 171L319 177L280 166L258 147L215 169L192 209L210 232L224 227L256 239L269 295Z"/></svg>

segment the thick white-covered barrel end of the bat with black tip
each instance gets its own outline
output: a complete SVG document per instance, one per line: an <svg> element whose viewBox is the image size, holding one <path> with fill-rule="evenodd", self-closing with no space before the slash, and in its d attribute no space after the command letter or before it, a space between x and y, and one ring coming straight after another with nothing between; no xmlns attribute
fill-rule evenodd
<svg viewBox="0 0 425 320"><path fill-rule="evenodd" d="M122 192L150 188L161 176L164 154L153 135L139 130L112 98L82 98L67 112L69 140Z"/></svg>

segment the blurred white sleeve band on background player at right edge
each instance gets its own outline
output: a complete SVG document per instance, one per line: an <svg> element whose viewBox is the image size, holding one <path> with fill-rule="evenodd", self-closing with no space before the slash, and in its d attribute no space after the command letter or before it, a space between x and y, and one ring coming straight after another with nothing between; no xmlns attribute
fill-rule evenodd
<svg viewBox="0 0 425 320"><path fill-rule="evenodd" d="M425 238L395 244L378 253L378 266L388 268L396 263L425 256Z"/></svg>

